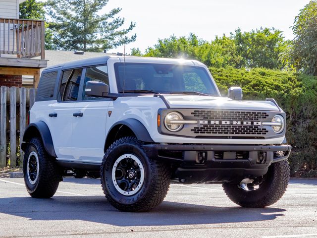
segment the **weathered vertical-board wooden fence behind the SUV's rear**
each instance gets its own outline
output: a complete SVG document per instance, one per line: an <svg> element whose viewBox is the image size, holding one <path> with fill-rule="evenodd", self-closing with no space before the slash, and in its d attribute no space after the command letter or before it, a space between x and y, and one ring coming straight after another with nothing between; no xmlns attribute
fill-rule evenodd
<svg viewBox="0 0 317 238"><path fill-rule="evenodd" d="M22 167L21 142L35 95L34 88L0 87L0 168L9 162Z"/></svg>

